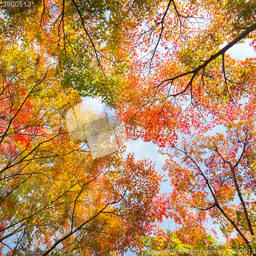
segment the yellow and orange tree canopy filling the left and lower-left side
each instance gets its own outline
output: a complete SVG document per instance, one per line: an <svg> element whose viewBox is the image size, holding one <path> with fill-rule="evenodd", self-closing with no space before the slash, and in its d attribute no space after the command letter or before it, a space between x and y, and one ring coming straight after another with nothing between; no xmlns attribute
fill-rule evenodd
<svg viewBox="0 0 256 256"><path fill-rule="evenodd" d="M123 253L161 218L161 177L150 162L122 159L121 152L93 160L66 127L78 93L61 87L48 56L25 45L1 46L2 249Z"/></svg>

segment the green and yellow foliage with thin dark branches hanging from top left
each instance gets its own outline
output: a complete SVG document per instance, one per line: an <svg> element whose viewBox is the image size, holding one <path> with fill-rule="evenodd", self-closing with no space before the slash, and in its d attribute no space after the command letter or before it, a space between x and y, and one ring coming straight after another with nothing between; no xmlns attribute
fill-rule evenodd
<svg viewBox="0 0 256 256"><path fill-rule="evenodd" d="M158 5L148 0L32 1L29 9L2 19L2 32L45 49L56 59L65 87L82 96L101 96L111 104L132 57L125 34Z"/></svg>

